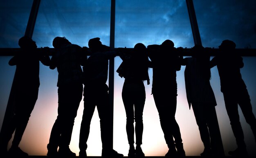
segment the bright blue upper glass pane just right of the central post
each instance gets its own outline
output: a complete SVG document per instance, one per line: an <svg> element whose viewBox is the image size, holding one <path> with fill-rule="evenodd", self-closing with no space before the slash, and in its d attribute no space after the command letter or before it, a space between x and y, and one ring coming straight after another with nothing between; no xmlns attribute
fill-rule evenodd
<svg viewBox="0 0 256 158"><path fill-rule="evenodd" d="M116 0L115 47L136 43L192 47L193 36L184 0Z"/></svg>

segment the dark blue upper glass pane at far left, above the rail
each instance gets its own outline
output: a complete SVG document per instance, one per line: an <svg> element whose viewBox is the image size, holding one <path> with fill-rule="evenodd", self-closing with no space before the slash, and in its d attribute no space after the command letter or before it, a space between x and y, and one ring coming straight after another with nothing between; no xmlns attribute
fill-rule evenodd
<svg viewBox="0 0 256 158"><path fill-rule="evenodd" d="M0 1L0 48L18 48L25 35L32 0Z"/></svg>

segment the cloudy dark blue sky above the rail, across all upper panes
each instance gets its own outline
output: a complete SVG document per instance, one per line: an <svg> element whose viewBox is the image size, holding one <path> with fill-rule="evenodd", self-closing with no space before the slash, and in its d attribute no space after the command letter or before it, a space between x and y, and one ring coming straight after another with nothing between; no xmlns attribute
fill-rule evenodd
<svg viewBox="0 0 256 158"><path fill-rule="evenodd" d="M238 48L256 48L256 1L194 0L204 47L218 47L222 40ZM32 0L0 1L0 47L18 47L25 33ZM185 0L116 0L115 46L137 42L159 44L165 39L176 47L193 47ZM52 47L55 36L88 46L100 37L108 45L110 0L41 0L33 38L38 47Z"/></svg>

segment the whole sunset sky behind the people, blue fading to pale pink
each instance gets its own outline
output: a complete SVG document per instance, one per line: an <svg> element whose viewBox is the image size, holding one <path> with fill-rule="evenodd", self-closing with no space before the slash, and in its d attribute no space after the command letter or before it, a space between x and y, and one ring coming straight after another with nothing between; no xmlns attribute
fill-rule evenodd
<svg viewBox="0 0 256 158"><path fill-rule="evenodd" d="M25 33L32 0L0 0L0 48L18 48L18 39ZM256 48L256 1L254 0L193 0L200 37L204 47L218 48L225 40L233 40L237 48ZM138 42L144 45L161 44L170 39L175 47L194 45L185 0L116 0L115 47L132 48ZM99 37L104 45L110 39L110 0L41 0L32 39L38 47L51 47L56 36L65 36L73 44L88 47L90 38ZM231 52L230 52L231 54ZM232 54L231 54L232 55ZM9 66L11 56L0 56L0 125L4 118L15 66ZM251 96L256 114L256 57L243 57L241 74ZM121 63L115 58L114 72ZM180 126L187 156L200 156L203 151L193 109L189 110L184 86L184 69L177 71L176 120ZM220 92L220 78L216 67L211 69L211 86L215 93L216 113L225 154L236 149L234 134ZM46 155L52 125L57 116L57 70L40 65L38 100L31 113L20 148L29 155ZM149 70L152 83L152 69ZM126 115L121 98L124 78L114 76L114 132L113 148L127 156ZM144 133L142 150L146 156L164 156L168 147L159 123L151 84L146 85L146 103L143 113ZM256 143L249 125L240 111L249 156L256 156ZM83 114L83 100L75 119L70 149L79 153L79 129ZM11 141L9 142L11 145ZM99 117L92 118L88 139L88 156L101 155Z"/></svg>

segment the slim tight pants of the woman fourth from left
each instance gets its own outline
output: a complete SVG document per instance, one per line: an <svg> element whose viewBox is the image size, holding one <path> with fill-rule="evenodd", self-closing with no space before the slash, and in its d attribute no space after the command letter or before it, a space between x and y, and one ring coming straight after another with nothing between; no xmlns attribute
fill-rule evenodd
<svg viewBox="0 0 256 158"><path fill-rule="evenodd" d="M126 133L128 143L134 144L134 120L136 145L142 144L143 134L143 110L146 100L146 92L142 81L137 83L124 83L122 99L126 111Z"/></svg>

